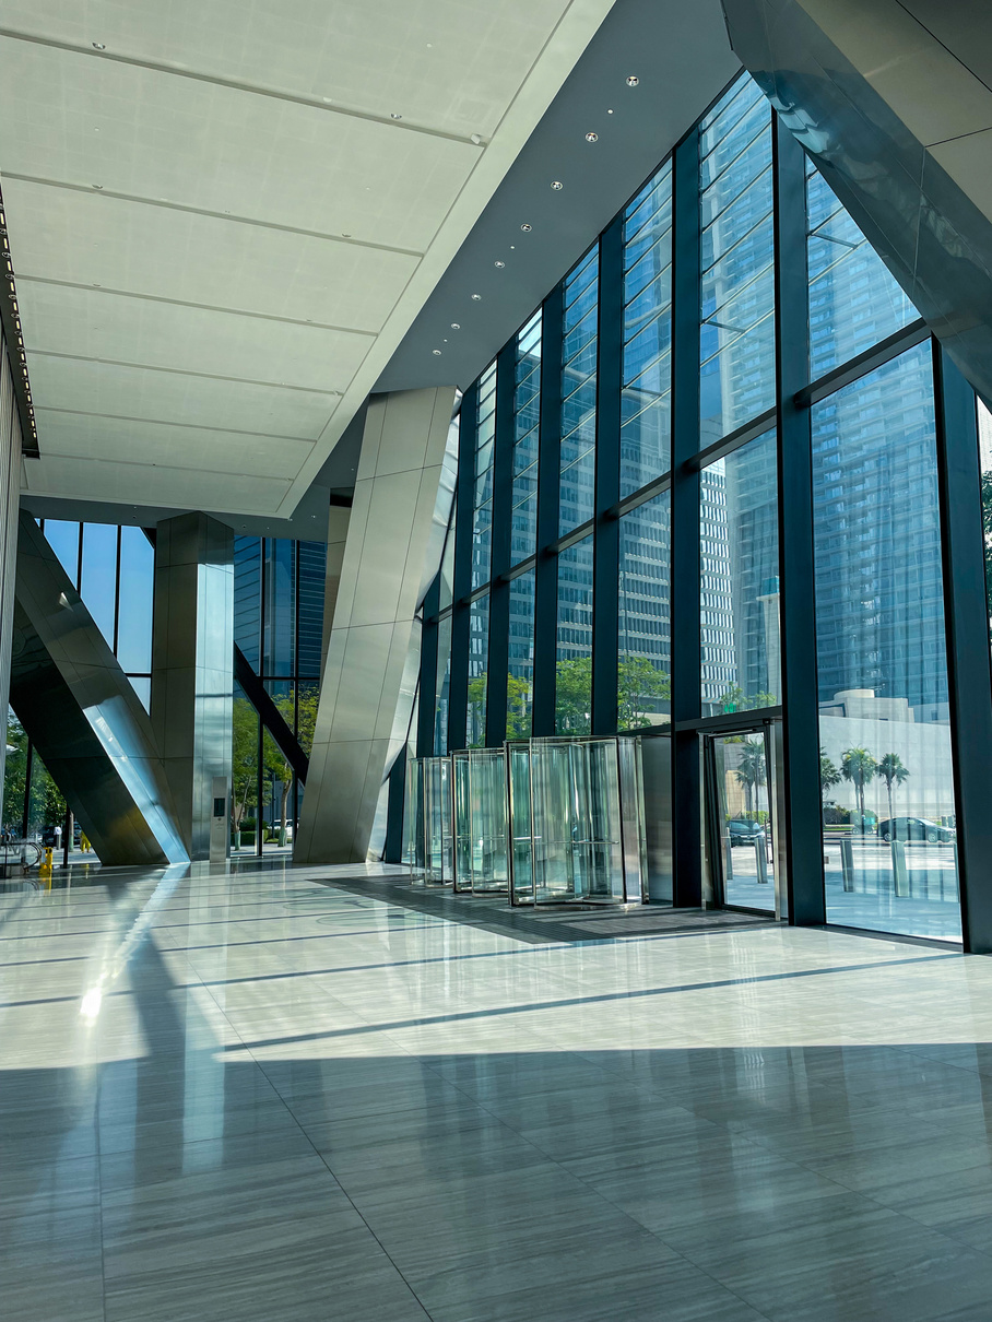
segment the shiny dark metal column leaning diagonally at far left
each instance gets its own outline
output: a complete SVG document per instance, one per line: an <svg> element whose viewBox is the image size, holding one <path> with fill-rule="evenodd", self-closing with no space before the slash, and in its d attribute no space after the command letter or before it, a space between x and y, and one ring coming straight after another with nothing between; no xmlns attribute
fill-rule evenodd
<svg viewBox="0 0 992 1322"><path fill-rule="evenodd" d="M19 524L11 702L103 863L184 863L138 695L34 520Z"/></svg>

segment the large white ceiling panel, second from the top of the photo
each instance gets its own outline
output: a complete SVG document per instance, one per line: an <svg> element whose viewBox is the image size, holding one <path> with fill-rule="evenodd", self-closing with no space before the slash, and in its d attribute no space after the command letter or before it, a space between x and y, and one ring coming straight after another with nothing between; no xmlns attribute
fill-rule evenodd
<svg viewBox="0 0 992 1322"><path fill-rule="evenodd" d="M5 176L417 253L481 149L21 41L0 38L0 66Z"/></svg>

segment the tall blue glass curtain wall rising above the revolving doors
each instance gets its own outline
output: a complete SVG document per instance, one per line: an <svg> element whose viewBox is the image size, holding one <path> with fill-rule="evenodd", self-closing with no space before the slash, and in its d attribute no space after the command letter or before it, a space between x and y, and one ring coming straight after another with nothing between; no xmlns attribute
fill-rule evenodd
<svg viewBox="0 0 992 1322"><path fill-rule="evenodd" d="M804 829L821 837L813 857L827 859L821 875L788 882L806 887L807 915L819 904L835 923L955 939L956 735L938 483L950 414L915 308L812 164L775 149L776 135L779 144L788 137L741 75L604 231L608 242L565 274L476 382L476 460L471 481L460 479L471 546L456 546L446 571L458 579L463 563L462 582L471 580L470 645L467 656L451 650L448 596L425 621L438 631L430 683L439 720L434 746L418 752L448 751L440 711L452 673L459 691L468 685L470 738L480 735L492 701L484 657L505 641L509 738L586 734L593 713L614 703L618 731L648 735L671 711L688 711L681 730L730 751L725 816L750 821L741 748L757 730L771 736L778 722L788 730L807 713L819 748L803 755L813 784L819 759L821 816ZM792 185L776 189L776 173L780 181L788 171ZM776 197L788 197L787 214L775 215ZM782 270L776 221L799 235L790 260L806 237L798 274ZM776 282L788 292L783 307ZM804 311L795 296L803 283ZM808 350L788 387L800 426L787 444L776 432L783 344ZM497 382L503 371L513 381ZM505 416L495 412L497 390L513 399ZM992 420L980 423L992 546ZM812 469L803 535L813 571L804 579L780 516L796 446ZM598 486L615 490L616 475L618 504L598 510ZM509 632L493 641L492 493L501 483L513 492L497 516L511 520L509 611L493 613L492 629ZM690 546L697 561L686 558ZM673 584L675 547L682 571ZM992 582L992 551L988 559ZM794 682L783 699L787 599L815 605L816 680ZM682 648L686 637L698 639L697 652ZM686 654L697 660L680 666ZM612 656L615 669L603 664ZM676 751L676 801L692 801L693 776L700 793L693 756L694 769ZM771 793L767 810L774 816ZM697 846L701 858L702 836ZM676 862L676 898L680 886L698 895L692 884L701 883L680 875Z"/></svg>

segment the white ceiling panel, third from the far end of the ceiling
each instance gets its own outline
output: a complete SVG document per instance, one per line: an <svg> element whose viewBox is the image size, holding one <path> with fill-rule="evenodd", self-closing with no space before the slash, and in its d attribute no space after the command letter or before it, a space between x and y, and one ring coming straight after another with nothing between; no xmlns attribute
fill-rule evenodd
<svg viewBox="0 0 992 1322"><path fill-rule="evenodd" d="M46 408L316 440L335 397L153 368L32 354L32 390Z"/></svg>

